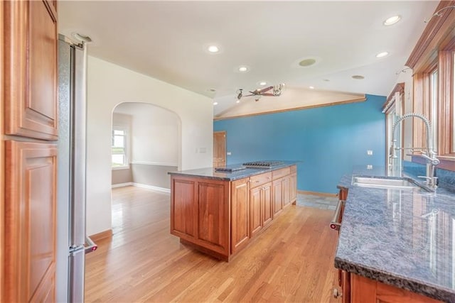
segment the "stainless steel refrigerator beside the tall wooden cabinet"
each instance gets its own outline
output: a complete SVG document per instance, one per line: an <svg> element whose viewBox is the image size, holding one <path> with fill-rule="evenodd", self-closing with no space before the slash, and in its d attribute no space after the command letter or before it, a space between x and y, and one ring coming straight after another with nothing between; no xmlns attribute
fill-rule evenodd
<svg viewBox="0 0 455 303"><path fill-rule="evenodd" d="M96 249L85 233L87 45L58 43L56 299L83 302L85 253Z"/></svg>

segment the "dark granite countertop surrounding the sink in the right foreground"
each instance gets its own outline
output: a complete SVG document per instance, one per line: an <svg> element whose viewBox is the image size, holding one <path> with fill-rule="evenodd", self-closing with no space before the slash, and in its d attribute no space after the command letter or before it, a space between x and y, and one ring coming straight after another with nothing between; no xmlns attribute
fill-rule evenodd
<svg viewBox="0 0 455 303"><path fill-rule="evenodd" d="M384 175L384 170L353 175ZM455 193L348 189L335 267L445 302L455 302Z"/></svg>

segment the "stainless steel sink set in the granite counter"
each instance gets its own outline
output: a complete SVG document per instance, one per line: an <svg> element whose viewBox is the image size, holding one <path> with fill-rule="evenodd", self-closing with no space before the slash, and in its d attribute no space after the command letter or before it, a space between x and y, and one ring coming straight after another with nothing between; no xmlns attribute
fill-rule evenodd
<svg viewBox="0 0 455 303"><path fill-rule="evenodd" d="M385 189L422 189L412 179L390 177L363 177L354 176L353 185L358 187L372 187Z"/></svg>

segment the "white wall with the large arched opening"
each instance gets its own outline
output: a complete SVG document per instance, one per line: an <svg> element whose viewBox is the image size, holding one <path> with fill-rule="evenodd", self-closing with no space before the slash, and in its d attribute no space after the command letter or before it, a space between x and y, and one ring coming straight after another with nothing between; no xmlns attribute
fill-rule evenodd
<svg viewBox="0 0 455 303"><path fill-rule="evenodd" d="M145 102L181 120L178 168L210 167L213 157L212 100L95 57L87 68L87 233L111 228L112 111L125 101ZM206 153L196 153L205 148Z"/></svg>

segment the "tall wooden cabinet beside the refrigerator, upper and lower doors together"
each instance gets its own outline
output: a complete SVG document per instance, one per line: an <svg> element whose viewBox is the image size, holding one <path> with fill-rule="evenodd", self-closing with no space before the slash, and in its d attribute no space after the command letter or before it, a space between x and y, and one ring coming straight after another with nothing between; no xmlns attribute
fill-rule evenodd
<svg viewBox="0 0 455 303"><path fill-rule="evenodd" d="M55 302L57 2L0 16L0 301Z"/></svg>

